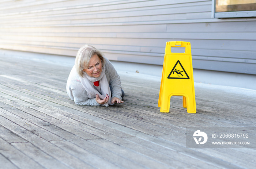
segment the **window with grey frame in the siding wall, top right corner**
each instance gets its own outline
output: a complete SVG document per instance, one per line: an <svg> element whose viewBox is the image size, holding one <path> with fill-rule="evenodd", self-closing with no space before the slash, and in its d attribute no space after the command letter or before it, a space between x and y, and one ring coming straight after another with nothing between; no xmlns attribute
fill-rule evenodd
<svg viewBox="0 0 256 169"><path fill-rule="evenodd" d="M212 0L213 18L256 17L256 0Z"/></svg>

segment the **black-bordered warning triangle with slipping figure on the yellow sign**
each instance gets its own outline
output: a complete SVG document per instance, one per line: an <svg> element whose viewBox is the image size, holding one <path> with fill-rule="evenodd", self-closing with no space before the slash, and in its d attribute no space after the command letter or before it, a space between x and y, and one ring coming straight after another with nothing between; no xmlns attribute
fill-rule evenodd
<svg viewBox="0 0 256 169"><path fill-rule="evenodd" d="M182 70L181 70L182 69ZM176 64L174 65L171 73L167 78L172 78L172 79L189 79L187 72L181 65L180 61L178 60Z"/></svg>

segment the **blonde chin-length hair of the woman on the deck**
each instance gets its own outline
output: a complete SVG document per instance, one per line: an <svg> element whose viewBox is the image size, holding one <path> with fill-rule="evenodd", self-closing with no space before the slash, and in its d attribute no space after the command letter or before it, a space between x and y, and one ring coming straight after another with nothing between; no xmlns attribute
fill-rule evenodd
<svg viewBox="0 0 256 169"><path fill-rule="evenodd" d="M83 77L83 69L86 69L88 67L91 58L95 54L98 55L99 59L101 59L102 66L103 66L105 64L103 54L101 51L99 51L95 47L91 45L84 45L78 50L76 54L76 59L75 59L75 68L79 76Z"/></svg>

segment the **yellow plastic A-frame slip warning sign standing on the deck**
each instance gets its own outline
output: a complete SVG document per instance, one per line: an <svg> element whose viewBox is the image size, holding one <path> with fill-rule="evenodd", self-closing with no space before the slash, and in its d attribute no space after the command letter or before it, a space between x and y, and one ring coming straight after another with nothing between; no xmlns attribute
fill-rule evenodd
<svg viewBox="0 0 256 169"><path fill-rule="evenodd" d="M172 49L185 48L185 53ZM161 112L170 111L172 96L183 96L182 105L188 113L196 113L196 99L190 42L166 42L158 107Z"/></svg>

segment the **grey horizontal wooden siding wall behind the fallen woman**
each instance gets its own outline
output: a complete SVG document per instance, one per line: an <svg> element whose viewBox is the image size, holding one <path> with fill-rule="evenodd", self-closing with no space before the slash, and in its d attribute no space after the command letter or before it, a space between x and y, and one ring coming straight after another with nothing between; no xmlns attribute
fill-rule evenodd
<svg viewBox="0 0 256 169"><path fill-rule="evenodd" d="M0 49L162 65L167 41L191 42L193 68L256 74L256 18L211 18L205 0L1 0Z"/></svg>

